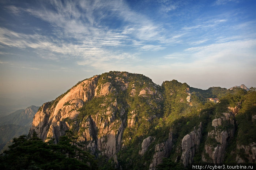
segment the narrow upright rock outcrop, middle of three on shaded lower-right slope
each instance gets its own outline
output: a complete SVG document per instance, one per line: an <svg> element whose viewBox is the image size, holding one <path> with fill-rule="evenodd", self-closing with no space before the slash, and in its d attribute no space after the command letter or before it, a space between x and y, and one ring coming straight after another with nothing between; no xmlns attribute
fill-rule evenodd
<svg viewBox="0 0 256 170"><path fill-rule="evenodd" d="M193 130L191 133L185 135L182 139L182 156L181 162L184 166L188 166L193 163L193 157L195 152L199 147L200 141L202 139L202 122L198 129Z"/></svg>

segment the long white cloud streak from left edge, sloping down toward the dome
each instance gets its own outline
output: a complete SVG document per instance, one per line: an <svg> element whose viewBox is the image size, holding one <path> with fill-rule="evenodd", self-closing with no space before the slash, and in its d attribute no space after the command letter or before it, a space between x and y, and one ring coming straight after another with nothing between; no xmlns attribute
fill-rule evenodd
<svg viewBox="0 0 256 170"><path fill-rule="evenodd" d="M5 28L0 28L0 44L9 47L18 48L34 48L45 52L54 52L65 55L64 57L80 56L84 59L96 58L117 59L118 55L113 55L112 51L101 48L102 44L108 43L103 40L96 40L99 44L91 44L91 41L83 44L70 43L54 43L48 37L42 35L27 35L24 33L16 33ZM113 41L111 41L113 43ZM121 56L120 56L121 59Z"/></svg>

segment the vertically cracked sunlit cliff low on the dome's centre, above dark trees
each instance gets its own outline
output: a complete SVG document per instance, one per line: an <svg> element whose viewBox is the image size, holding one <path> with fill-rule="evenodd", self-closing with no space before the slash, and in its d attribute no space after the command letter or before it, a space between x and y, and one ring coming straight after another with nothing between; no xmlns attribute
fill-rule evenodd
<svg viewBox="0 0 256 170"><path fill-rule="evenodd" d="M98 150L100 154L111 158L120 150L124 124L122 119L116 118L117 111L117 103L114 102L103 115L98 113L83 119L79 128L79 134L82 134L79 141L88 142L87 149L94 155L98 155Z"/></svg>

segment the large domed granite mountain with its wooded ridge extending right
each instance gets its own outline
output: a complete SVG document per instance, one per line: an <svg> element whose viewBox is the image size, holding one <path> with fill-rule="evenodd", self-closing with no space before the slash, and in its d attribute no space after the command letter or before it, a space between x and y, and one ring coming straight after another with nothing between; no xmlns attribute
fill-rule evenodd
<svg viewBox="0 0 256 170"><path fill-rule="evenodd" d="M68 134L113 169L256 163L255 107L253 88L201 90L177 80L159 86L142 74L110 71L44 103L29 136L58 143Z"/></svg>

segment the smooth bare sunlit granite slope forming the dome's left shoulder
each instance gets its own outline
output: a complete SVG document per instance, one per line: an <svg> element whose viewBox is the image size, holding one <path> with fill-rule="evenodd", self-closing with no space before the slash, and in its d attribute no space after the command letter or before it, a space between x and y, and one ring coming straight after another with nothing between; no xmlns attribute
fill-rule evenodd
<svg viewBox="0 0 256 170"><path fill-rule="evenodd" d="M61 120L67 117L75 118L79 114L77 110L93 98L98 77L94 76L84 80L72 87L62 98L59 97L60 99L57 98L53 102L44 103L35 114L29 134L31 135L35 131L43 141L46 141L46 138L54 138L57 142L59 137L65 134L65 130L69 129L61 123ZM102 90L102 93L106 92ZM59 131L59 127L63 125L65 129Z"/></svg>

